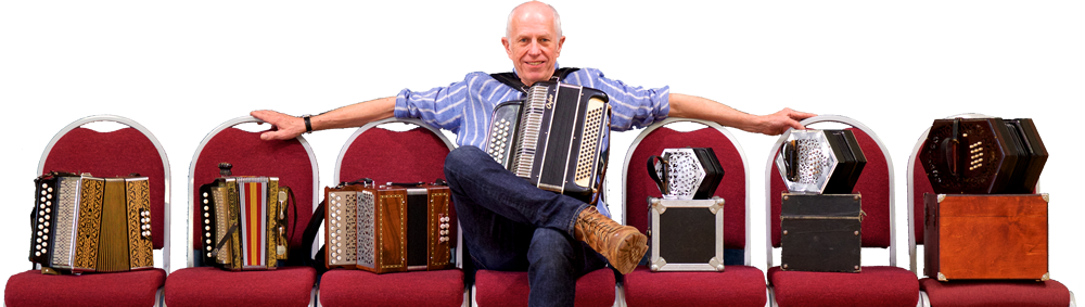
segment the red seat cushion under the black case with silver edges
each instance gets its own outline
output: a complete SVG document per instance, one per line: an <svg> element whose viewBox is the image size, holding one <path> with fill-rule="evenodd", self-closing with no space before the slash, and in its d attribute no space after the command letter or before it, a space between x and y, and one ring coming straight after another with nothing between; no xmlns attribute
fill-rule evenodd
<svg viewBox="0 0 1085 307"><path fill-rule="evenodd" d="M637 267L622 283L629 306L765 306L765 273L748 266L723 272L652 272Z"/></svg>

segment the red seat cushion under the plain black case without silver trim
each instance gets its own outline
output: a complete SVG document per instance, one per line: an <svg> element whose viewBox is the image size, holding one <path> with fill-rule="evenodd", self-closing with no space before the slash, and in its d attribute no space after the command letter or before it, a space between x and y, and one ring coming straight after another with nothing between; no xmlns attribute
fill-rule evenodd
<svg viewBox="0 0 1085 307"><path fill-rule="evenodd" d="M919 280L899 267L863 267L858 273L784 271L766 273L780 306L902 306L919 302Z"/></svg>

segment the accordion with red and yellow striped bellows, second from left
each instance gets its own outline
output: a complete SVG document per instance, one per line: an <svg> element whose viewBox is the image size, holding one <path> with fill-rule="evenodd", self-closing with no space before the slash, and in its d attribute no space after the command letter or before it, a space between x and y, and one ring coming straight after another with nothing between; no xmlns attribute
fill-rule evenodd
<svg viewBox="0 0 1085 307"><path fill-rule="evenodd" d="M273 270L290 250L290 194L278 177L227 175L200 186L203 263L233 271Z"/></svg>

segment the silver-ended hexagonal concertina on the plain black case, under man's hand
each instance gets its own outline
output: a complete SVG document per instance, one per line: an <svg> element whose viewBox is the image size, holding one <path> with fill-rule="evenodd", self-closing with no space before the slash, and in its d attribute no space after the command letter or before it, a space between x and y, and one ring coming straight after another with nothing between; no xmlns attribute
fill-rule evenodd
<svg viewBox="0 0 1085 307"><path fill-rule="evenodd" d="M844 129L791 130L776 156L792 193L852 193L866 164L855 135Z"/></svg>

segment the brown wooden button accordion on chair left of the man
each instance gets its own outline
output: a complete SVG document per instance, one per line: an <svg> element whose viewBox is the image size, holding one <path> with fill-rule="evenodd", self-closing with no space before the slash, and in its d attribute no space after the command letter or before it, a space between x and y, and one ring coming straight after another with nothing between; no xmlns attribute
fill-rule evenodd
<svg viewBox="0 0 1085 307"><path fill-rule="evenodd" d="M327 267L375 273L452 268L456 219L448 187L438 183L324 187Z"/></svg>

